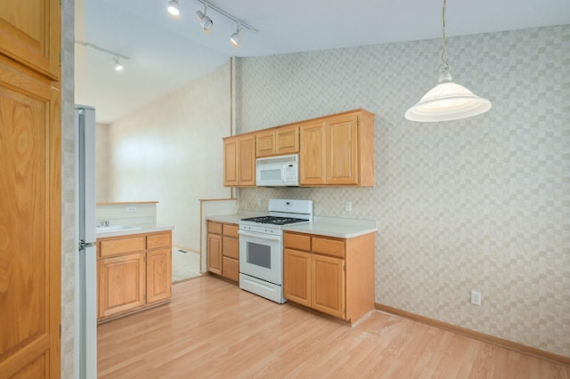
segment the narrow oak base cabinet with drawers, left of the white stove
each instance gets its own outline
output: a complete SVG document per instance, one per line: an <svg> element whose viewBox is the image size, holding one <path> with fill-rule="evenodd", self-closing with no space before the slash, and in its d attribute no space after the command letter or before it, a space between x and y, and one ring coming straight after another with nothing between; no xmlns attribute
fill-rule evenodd
<svg viewBox="0 0 570 379"><path fill-rule="evenodd" d="M238 225L208 221L208 271L233 282L240 280Z"/></svg>

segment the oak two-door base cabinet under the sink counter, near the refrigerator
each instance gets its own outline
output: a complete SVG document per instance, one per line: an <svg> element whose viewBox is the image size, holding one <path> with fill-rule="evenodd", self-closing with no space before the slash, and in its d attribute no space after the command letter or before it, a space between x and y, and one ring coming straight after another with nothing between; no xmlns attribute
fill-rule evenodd
<svg viewBox="0 0 570 379"><path fill-rule="evenodd" d="M97 239L97 320L170 300L172 231Z"/></svg>

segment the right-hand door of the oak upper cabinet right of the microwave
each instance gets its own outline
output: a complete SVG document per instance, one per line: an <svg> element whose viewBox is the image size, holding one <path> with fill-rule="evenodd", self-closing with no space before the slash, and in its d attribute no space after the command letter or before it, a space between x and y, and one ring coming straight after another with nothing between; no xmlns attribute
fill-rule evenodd
<svg viewBox="0 0 570 379"><path fill-rule="evenodd" d="M355 115L326 121L327 175L329 185L358 184L358 130Z"/></svg>

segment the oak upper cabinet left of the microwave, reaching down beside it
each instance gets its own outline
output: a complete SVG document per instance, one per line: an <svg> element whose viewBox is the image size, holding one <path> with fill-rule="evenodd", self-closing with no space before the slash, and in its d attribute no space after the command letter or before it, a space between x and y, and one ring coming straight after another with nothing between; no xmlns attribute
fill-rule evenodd
<svg viewBox="0 0 570 379"><path fill-rule="evenodd" d="M224 186L251 187L255 185L255 134L224 138Z"/></svg>

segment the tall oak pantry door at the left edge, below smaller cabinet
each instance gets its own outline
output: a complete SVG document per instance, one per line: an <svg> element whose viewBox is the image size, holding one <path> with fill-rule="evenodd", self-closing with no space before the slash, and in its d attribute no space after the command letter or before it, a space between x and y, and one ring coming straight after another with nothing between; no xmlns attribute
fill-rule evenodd
<svg viewBox="0 0 570 379"><path fill-rule="evenodd" d="M18 2L2 4L4 16ZM60 99L53 82L0 54L3 377L60 375Z"/></svg>

